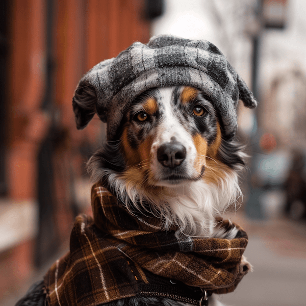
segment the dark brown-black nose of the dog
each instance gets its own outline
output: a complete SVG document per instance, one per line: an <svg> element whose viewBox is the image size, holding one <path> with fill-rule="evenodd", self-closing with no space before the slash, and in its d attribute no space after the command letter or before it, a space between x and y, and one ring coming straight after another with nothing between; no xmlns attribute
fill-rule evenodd
<svg viewBox="0 0 306 306"><path fill-rule="evenodd" d="M165 167L175 168L186 158L185 146L174 137L162 144L157 150L157 159Z"/></svg>

